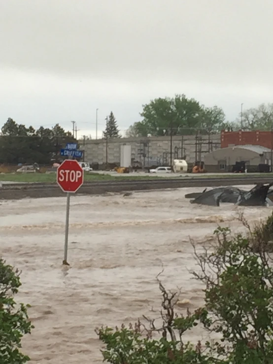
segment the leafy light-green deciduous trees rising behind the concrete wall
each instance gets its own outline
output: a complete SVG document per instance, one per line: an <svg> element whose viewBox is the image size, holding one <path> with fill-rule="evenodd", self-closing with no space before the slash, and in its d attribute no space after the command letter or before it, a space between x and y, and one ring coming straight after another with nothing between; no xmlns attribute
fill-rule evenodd
<svg viewBox="0 0 273 364"><path fill-rule="evenodd" d="M235 132L270 131L273 126L273 103L260 104L243 111L242 118L226 121L224 111L218 107L205 107L185 95L174 98L158 98L143 105L142 121L133 124L127 136L191 135L197 131L217 133L222 130Z"/></svg>

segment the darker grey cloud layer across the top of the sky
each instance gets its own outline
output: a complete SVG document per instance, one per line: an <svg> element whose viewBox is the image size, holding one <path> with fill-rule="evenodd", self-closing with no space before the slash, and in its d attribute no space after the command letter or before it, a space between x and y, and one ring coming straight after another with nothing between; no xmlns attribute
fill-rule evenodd
<svg viewBox="0 0 273 364"><path fill-rule="evenodd" d="M85 77L272 80L271 0L8 0L2 65Z"/></svg>

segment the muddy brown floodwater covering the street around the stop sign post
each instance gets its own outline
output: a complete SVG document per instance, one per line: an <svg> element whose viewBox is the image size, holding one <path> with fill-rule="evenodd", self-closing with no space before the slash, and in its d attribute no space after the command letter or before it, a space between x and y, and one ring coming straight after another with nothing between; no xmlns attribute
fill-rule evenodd
<svg viewBox="0 0 273 364"><path fill-rule="evenodd" d="M158 316L151 307L160 308L155 277L162 263L166 287L181 287L180 298L193 309L202 305L203 287L189 272L196 268L189 236L201 248L218 223L240 227L233 204L208 207L184 199L203 189L71 197L70 268L62 266L65 197L1 201L0 252L22 270L16 300L32 305L35 329L23 339L31 364L102 363L94 329ZM254 222L272 208L243 211ZM200 331L187 336L197 337Z"/></svg>

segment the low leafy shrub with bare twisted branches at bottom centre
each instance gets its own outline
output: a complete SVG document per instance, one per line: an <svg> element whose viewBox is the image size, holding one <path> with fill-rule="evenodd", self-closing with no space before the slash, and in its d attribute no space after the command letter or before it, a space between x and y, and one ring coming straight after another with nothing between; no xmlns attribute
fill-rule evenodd
<svg viewBox="0 0 273 364"><path fill-rule="evenodd" d="M198 310L193 315L187 311L185 317L180 315L179 329L175 330L177 293L167 292L159 279L158 282L162 293L161 326L156 327L155 319L143 316L145 324L138 320L129 328L122 325L120 330L117 327L115 331L108 327L96 329L106 344L102 351L104 361L113 364L208 364L200 342L192 345L182 341L182 333L197 325L203 311ZM161 333L162 337L154 338L155 333Z"/></svg>

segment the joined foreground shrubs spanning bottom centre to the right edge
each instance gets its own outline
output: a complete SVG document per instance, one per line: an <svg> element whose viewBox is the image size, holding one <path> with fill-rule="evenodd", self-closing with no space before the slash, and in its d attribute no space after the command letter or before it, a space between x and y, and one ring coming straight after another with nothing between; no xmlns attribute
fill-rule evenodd
<svg viewBox="0 0 273 364"><path fill-rule="evenodd" d="M266 224L269 226L270 224ZM96 329L104 361L112 364L272 364L273 268L264 245L253 250L254 236L232 236L227 228L215 231L216 240L194 252L204 282L204 307L187 315L175 312L177 293L162 293L162 324L146 323L121 329ZM147 326L148 323L148 327ZM145 326L146 325L146 326ZM199 325L218 341L183 342L183 334ZM153 337L161 333L160 339Z"/></svg>

